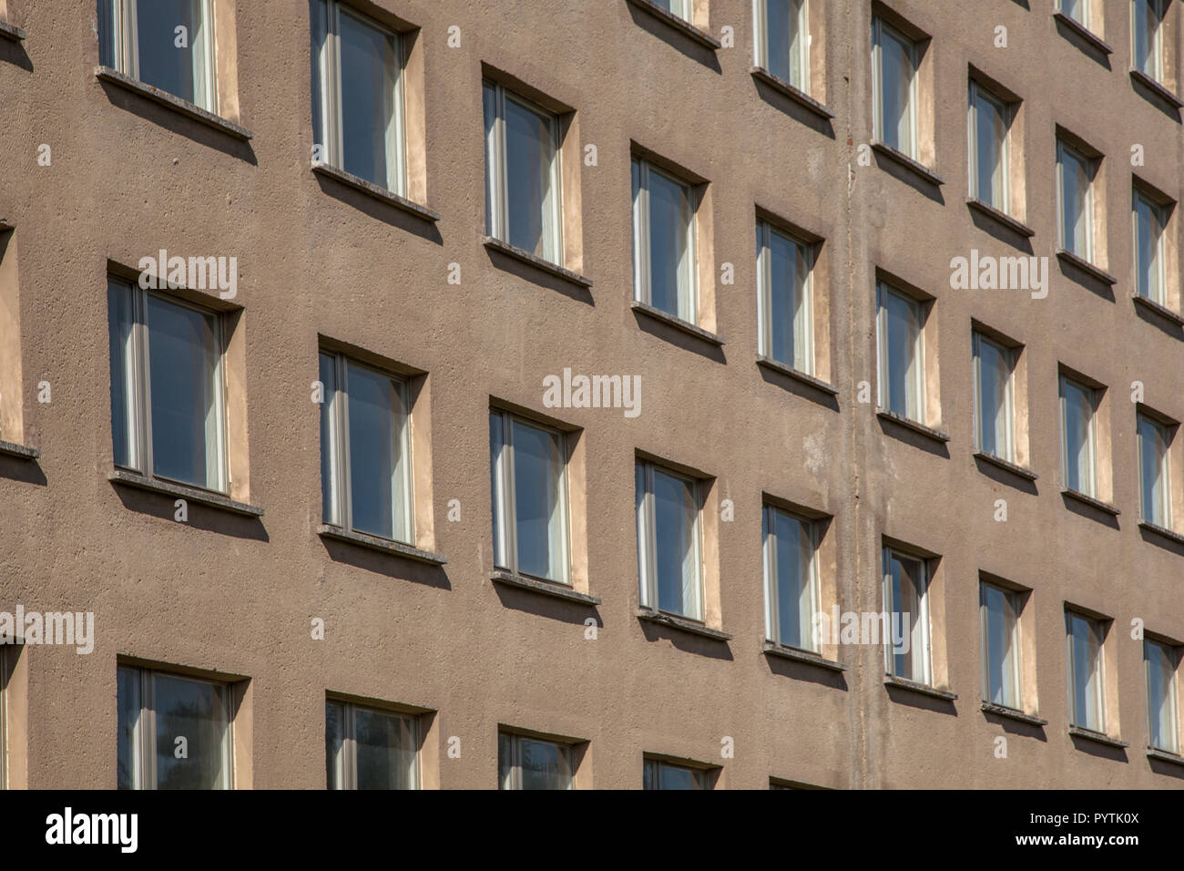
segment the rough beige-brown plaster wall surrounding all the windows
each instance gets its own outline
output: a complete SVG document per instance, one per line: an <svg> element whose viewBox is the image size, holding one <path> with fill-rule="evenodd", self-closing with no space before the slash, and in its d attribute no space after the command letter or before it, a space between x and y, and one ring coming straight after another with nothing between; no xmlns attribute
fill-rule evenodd
<svg viewBox="0 0 1184 871"><path fill-rule="evenodd" d="M709 6L707 23L700 5ZM832 787L1179 784L1144 755L1141 646L1130 621L1184 639L1184 549L1138 529L1128 385L1143 380L1146 403L1180 420L1184 340L1131 303L1127 204L1131 145L1145 148L1140 178L1177 198L1184 146L1179 121L1132 89L1126 4L1105 5L1111 69L1058 33L1051 0L1031 0L1030 9L1011 0L893 0L932 37L932 168L945 179L935 192L901 181L881 156L856 161L871 140L868 2L826 4L825 38L815 44L826 81L816 92L837 117L811 124L792 103L762 98L749 76L749 0L696 2L696 23L716 37L734 27L735 46L718 52L625 0L565 0L545 27L526 0L375 0L365 7L422 28L413 57L423 79L410 87L423 88L425 182L411 190L440 213L432 225L310 172L303 2L219 4L234 27L233 39L219 36L220 50L233 46L237 79L224 107L253 134L245 145L96 81L90 0L8 0L27 38L21 47L0 41L0 218L15 228L8 254L20 251L19 294L0 288L0 300L19 300L21 438L41 459L38 475L0 457L0 609L94 610L97 632L86 657L24 651L27 697L9 706L27 717L27 744L11 749L22 756L21 777L38 788L115 786L116 658L128 657L250 679L240 786L323 787L327 692L435 711L425 783L443 788L496 786L498 724L591 742L580 782L605 788L639 787L643 752L722 766L721 788L764 788L770 777ZM446 45L450 25L461 27L458 49ZM996 25L1008 28L1006 50L992 46ZM598 148L599 165L580 166L571 188L583 238L568 251L580 252L590 293L498 268L482 245L482 64L574 108L568 129ZM970 65L1024 101L1016 145L1032 252L1050 258L1045 300L948 286L951 257L971 248L1019 252L984 232L964 204ZM1108 214L1098 243L1119 280L1113 299L1064 275L1051 256L1057 124L1105 155ZM37 165L41 142L52 166ZM707 181L701 262L714 262L715 276L735 265L733 286L701 296L714 296L702 320L727 340L721 352L631 310L631 142ZM821 370L839 390L835 403L754 365L758 205L824 239L816 293L830 322L818 344L830 350ZM238 257L232 376L246 421L232 430L250 476L249 492L240 480L234 497L265 508L259 523L191 505L191 521L179 524L172 499L108 481L108 264L135 267L161 248ZM450 263L462 267L459 286L446 282ZM874 396L877 269L935 299L940 356L929 365L940 370L940 420L929 424L952 436L945 449L856 399L863 380ZM1040 474L1031 492L985 474L971 456L972 319L1025 346L1030 465ZM417 450L416 482L430 481L435 515L417 527L431 530L430 546L449 559L443 570L337 549L353 556L335 559L315 534L309 383L318 335L429 373L413 425L431 434L430 455ZM12 337L0 337L0 361L9 360ZM1058 364L1108 388L1113 502L1122 511L1114 526L1061 497ZM542 412L542 378L565 366L641 374L643 384L636 420L547 411L583 430L586 525L575 534L586 542L587 591L603 600L594 613L489 581L490 398ZM43 379L52 384L49 404L37 402ZM7 406L0 422L8 425ZM720 628L734 635L727 645L636 617L637 451L713 476L708 511L735 502L732 523L706 524ZM842 677L760 653L762 493L834 518L825 556L843 610L880 610L886 536L940 556L942 671L957 702L889 696L880 647L838 649L849 667ZM451 499L458 523L446 518ZM997 499L1008 501L1006 523L993 519ZM979 711L980 571L1032 590L1025 626L1035 633L1043 730L1004 728ZM1114 620L1111 717L1131 743L1125 756L1079 749L1067 734L1064 601ZM593 614L601 628L585 640ZM324 641L310 639L313 617L326 621ZM995 757L999 735L1006 760ZM445 752L451 736L461 758ZM720 756L725 736L734 758Z"/></svg>

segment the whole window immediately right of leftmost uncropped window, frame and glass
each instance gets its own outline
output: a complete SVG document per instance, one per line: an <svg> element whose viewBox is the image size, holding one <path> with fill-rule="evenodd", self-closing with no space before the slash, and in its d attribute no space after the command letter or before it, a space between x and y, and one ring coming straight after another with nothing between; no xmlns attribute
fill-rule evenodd
<svg viewBox="0 0 1184 871"><path fill-rule="evenodd" d="M407 383L321 352L324 523L413 544Z"/></svg>

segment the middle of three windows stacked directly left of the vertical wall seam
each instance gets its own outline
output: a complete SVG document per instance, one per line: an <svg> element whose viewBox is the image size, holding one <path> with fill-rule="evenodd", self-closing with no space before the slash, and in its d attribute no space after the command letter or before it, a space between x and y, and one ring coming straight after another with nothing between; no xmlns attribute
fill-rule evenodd
<svg viewBox="0 0 1184 871"><path fill-rule="evenodd" d="M757 222L760 353L806 374L813 374L812 269L811 245Z"/></svg>

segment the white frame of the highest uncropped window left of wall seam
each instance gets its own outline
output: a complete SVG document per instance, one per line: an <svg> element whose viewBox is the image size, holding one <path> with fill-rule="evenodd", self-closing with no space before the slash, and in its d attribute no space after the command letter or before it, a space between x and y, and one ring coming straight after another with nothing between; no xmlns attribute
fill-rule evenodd
<svg viewBox="0 0 1184 871"><path fill-rule="evenodd" d="M484 149L485 149L485 196L489 201L485 204L485 231L495 239L498 239L507 245L513 243L509 239L509 197L508 197L508 148L506 141L506 102L517 103L517 105L527 111L546 120L547 129L551 134L551 165L547 167L547 173L551 177L551 185L548 188L548 196L552 199L552 216L551 220L540 219L540 225L545 228L545 233L551 233L551 244L554 249L554 257L540 256L558 267L562 267L565 263L565 251L564 251L564 175L562 175L562 147L560 141L560 123L559 116L555 113L546 109L532 100L523 97L520 94L510 90L501 82L496 82L491 78L484 78L481 83L482 87L482 114L484 114L484 90L490 89L494 92L494 126L493 130L487 130L484 135ZM485 121L483 119L482 123ZM493 142L490 142L493 139ZM547 197L543 197L540 206L542 207L543 217L546 216ZM495 207L496 206L496 207ZM549 224L549 226L547 226ZM543 236L543 251L547 248L547 238ZM534 251L528 251L528 254L534 255Z"/></svg>

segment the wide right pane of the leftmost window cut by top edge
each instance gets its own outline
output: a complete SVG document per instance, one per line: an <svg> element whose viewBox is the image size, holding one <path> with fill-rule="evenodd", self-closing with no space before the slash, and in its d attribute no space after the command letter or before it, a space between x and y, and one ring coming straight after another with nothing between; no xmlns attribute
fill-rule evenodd
<svg viewBox="0 0 1184 871"><path fill-rule="evenodd" d="M202 0L137 0L136 49L141 82L212 110L204 6Z"/></svg>

